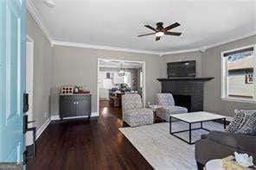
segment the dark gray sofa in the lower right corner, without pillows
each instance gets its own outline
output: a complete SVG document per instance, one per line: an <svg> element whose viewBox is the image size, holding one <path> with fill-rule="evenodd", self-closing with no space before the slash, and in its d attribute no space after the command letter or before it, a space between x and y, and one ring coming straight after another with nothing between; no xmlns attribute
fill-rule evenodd
<svg viewBox="0 0 256 170"><path fill-rule="evenodd" d="M207 161L225 158L235 151L252 155L256 164L256 136L211 131L195 142L195 161L202 169Z"/></svg>

